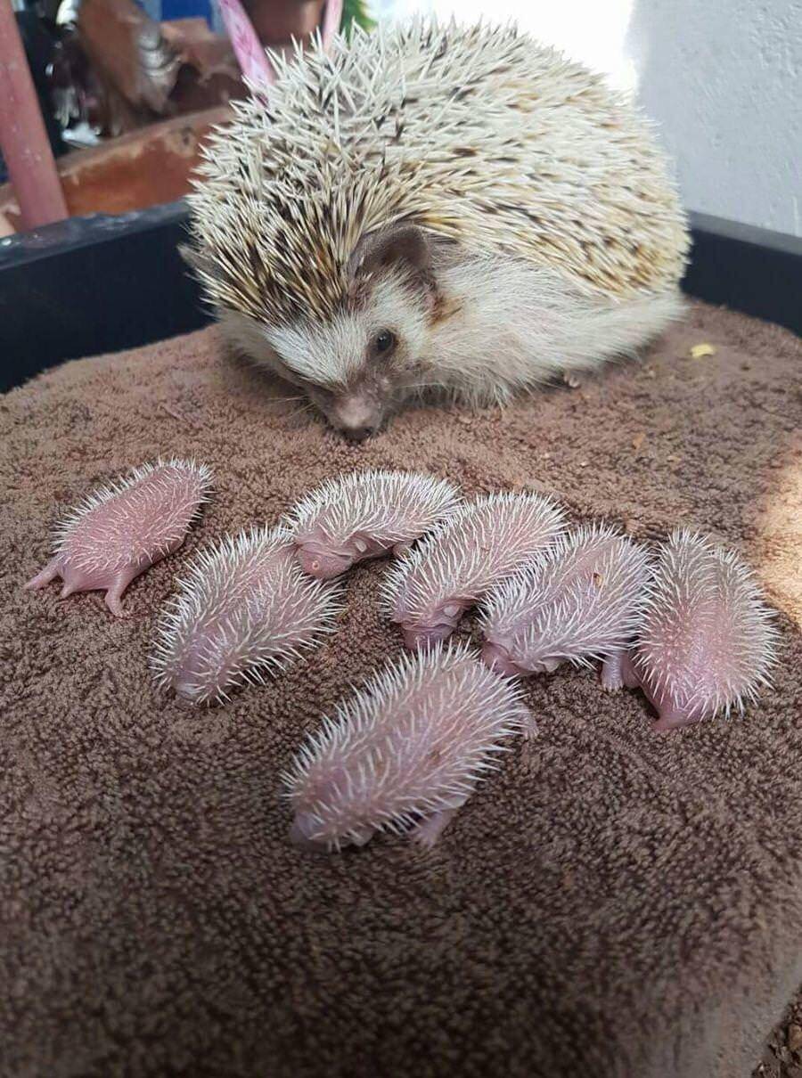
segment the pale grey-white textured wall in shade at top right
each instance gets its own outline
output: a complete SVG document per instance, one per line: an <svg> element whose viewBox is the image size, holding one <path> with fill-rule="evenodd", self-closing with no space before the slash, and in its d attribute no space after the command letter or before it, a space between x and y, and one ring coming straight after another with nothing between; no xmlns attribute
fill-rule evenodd
<svg viewBox="0 0 802 1078"><path fill-rule="evenodd" d="M802 236L802 4L640 0L625 47L690 208Z"/></svg>

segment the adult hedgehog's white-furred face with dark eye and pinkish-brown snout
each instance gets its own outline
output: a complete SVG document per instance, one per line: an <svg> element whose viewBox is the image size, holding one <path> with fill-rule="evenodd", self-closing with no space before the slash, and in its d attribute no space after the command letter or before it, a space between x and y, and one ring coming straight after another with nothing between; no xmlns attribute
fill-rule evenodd
<svg viewBox="0 0 802 1078"><path fill-rule="evenodd" d="M226 319L252 359L303 388L333 427L355 438L377 430L427 381L428 370L423 296L392 273L370 284L358 304L326 324L300 319L259 326L243 315Z"/></svg>

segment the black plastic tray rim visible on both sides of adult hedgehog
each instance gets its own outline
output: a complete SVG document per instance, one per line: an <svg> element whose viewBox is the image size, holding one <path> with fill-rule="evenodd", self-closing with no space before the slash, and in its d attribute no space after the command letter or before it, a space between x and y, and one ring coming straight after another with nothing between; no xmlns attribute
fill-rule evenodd
<svg viewBox="0 0 802 1078"><path fill-rule="evenodd" d="M178 253L181 202L0 239L0 390L68 359L207 324ZM802 239L691 215L685 291L802 333Z"/></svg>

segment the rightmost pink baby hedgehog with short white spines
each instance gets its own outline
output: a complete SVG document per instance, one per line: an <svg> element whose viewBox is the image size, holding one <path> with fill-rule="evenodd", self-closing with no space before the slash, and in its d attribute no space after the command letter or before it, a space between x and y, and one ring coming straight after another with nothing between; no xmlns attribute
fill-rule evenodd
<svg viewBox="0 0 802 1078"><path fill-rule="evenodd" d="M771 685L777 634L751 570L690 531L662 548L637 645L622 675L673 730L733 708Z"/></svg>

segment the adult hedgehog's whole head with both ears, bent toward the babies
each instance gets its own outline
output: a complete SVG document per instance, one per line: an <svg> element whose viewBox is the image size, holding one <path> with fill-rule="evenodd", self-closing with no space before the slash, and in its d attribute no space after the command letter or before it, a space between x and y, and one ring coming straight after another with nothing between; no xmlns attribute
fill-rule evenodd
<svg viewBox="0 0 802 1078"><path fill-rule="evenodd" d="M230 271L219 258L184 253L212 293L235 347L299 386L332 427L361 441L430 381L428 335L440 304L432 266L434 243L409 221L363 233L324 281L323 304L315 302L317 295L300 291L292 295L287 288L282 302L254 304L250 288L245 296L240 287L226 288ZM239 264L253 267L252 261ZM314 258L306 263L308 290L315 287L319 267ZM259 299L282 288L271 272L269 265L252 270ZM332 284L337 286L334 293ZM229 302L221 303L220 293Z"/></svg>

